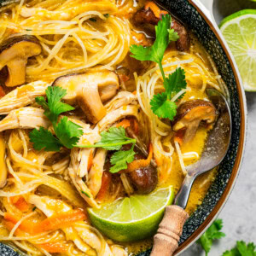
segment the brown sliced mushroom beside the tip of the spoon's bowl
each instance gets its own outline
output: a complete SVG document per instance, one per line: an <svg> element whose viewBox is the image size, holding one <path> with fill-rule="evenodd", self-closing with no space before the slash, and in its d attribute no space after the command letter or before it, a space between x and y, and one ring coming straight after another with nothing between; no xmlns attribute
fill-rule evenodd
<svg viewBox="0 0 256 256"><path fill-rule="evenodd" d="M177 116L173 121L173 131L183 131L183 143L189 143L195 137L201 121L212 124L217 117L217 110L211 102L191 100L177 108Z"/></svg>

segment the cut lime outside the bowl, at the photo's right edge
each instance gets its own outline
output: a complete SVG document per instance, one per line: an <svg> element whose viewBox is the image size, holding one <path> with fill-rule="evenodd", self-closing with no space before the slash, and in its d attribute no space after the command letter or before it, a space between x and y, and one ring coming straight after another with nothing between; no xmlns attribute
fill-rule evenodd
<svg viewBox="0 0 256 256"><path fill-rule="evenodd" d="M245 90L256 91L256 10L241 10L219 26L235 56Z"/></svg>

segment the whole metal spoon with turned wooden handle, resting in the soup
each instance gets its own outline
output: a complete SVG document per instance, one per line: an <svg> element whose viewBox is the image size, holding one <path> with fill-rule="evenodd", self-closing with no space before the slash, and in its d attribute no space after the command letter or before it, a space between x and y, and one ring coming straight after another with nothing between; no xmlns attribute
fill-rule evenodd
<svg viewBox="0 0 256 256"><path fill-rule="evenodd" d="M166 207L165 216L154 236L151 256L171 256L177 250L183 225L189 218L184 209L195 178L218 166L224 160L230 146L232 127L229 104L218 90L208 89L207 95L218 110L218 119L209 132L200 160L186 166L187 175L175 197L174 205Z"/></svg>

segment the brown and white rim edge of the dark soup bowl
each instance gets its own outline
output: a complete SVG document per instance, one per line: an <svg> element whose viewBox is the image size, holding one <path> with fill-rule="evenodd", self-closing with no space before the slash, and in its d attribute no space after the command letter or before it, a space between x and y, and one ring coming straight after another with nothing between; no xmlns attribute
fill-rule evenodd
<svg viewBox="0 0 256 256"><path fill-rule="evenodd" d="M223 195L220 196L218 203L212 209L212 212L210 212L210 214L207 216L204 222L199 226L197 230L195 230L195 232L191 236L189 236L189 238L186 241L184 241L177 248L177 251L173 255L178 255L182 253L185 249L187 249L189 246L191 246L207 230L207 228L212 224L214 219L218 217L218 214L224 208L224 205L227 202L232 192L232 189L235 186L236 179L241 169L241 164L242 164L242 159L244 156L244 149L246 144L246 137L247 137L247 102L246 102L245 91L243 89L243 85L241 82L241 76L238 71L238 67L236 66L236 61L234 59L234 56L231 54L228 44L224 41L224 38L221 35L221 32L218 30L217 24L215 24L215 22L212 20L214 18L211 17L211 10L207 10L206 7L203 5L203 3L201 2L198 3L199 2L198 0L187 0L187 1L198 11L201 17L207 22L207 25L211 28L216 38L218 38L218 42L221 45L221 47L224 49L224 53L227 55L227 58L230 62L230 66L232 68L232 71L234 73L235 80L236 80L237 93L238 93L239 105L240 105L239 110L241 113L241 128L240 128L239 145L238 145L237 154L236 154L236 161L233 166L229 182L227 183L226 188L224 189Z"/></svg>

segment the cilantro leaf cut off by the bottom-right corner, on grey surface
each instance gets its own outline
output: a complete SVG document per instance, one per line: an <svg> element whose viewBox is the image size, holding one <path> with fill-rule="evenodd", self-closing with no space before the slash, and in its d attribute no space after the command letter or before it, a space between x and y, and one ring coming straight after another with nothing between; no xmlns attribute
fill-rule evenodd
<svg viewBox="0 0 256 256"><path fill-rule="evenodd" d="M256 247L253 242L236 241L236 247L224 252L223 256L256 256Z"/></svg>

